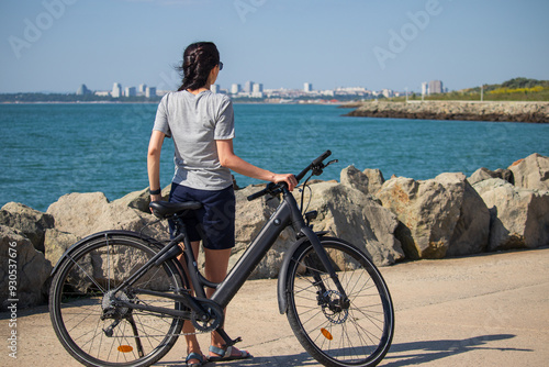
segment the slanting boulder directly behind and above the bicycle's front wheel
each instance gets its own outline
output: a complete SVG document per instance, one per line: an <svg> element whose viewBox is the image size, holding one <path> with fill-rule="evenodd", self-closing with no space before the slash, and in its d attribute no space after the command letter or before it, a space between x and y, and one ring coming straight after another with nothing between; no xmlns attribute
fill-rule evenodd
<svg viewBox="0 0 549 367"><path fill-rule="evenodd" d="M399 225L396 216L371 197L337 182L315 184L311 189L313 198L309 210L318 211L313 221L315 231L329 231L350 242L379 266L404 258L401 244L394 236ZM295 197L299 200L300 194Z"/></svg>

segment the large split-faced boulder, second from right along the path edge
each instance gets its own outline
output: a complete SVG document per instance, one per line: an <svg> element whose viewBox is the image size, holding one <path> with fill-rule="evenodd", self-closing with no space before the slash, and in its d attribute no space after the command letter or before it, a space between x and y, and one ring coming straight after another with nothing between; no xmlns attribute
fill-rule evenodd
<svg viewBox="0 0 549 367"><path fill-rule="evenodd" d="M442 258L486 247L490 215L463 174L441 174L416 181L395 177L378 192L401 224L396 237L406 256Z"/></svg>

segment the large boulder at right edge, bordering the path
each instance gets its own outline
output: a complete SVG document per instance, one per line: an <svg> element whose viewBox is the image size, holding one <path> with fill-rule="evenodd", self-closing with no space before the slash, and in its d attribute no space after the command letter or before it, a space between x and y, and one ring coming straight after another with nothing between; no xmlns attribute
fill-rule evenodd
<svg viewBox="0 0 549 367"><path fill-rule="evenodd" d="M474 185L492 214L490 251L549 245L549 192L498 178Z"/></svg>

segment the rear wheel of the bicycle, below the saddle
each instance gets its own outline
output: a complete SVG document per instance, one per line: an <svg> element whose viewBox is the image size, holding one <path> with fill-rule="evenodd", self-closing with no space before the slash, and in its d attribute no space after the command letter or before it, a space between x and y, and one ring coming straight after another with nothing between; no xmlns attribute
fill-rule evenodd
<svg viewBox="0 0 549 367"><path fill-rule="evenodd" d="M59 265L49 291L49 314L58 340L74 358L86 366L141 367L170 351L182 329L180 318L120 307L110 308L105 318L105 294L158 251L144 240L111 234L82 243ZM145 273L134 288L175 293L186 285L182 277L170 259ZM135 294L131 289L116 297L182 309L180 302Z"/></svg>

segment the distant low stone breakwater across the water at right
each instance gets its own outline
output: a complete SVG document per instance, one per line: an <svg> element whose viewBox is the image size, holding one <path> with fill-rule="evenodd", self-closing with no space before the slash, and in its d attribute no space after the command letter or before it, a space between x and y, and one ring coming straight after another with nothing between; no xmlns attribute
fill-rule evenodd
<svg viewBox="0 0 549 367"><path fill-rule="evenodd" d="M343 105L355 108L348 116L549 122L549 102L474 102L474 101L371 101Z"/></svg>

